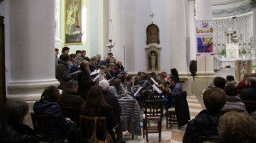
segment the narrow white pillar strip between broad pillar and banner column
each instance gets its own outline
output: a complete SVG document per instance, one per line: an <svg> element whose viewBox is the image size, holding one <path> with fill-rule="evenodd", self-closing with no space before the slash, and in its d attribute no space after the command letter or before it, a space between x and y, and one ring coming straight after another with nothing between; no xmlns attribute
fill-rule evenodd
<svg viewBox="0 0 256 143"><path fill-rule="evenodd" d="M195 38L195 0L188 0L188 33L189 33L189 60L196 60L196 38Z"/></svg>

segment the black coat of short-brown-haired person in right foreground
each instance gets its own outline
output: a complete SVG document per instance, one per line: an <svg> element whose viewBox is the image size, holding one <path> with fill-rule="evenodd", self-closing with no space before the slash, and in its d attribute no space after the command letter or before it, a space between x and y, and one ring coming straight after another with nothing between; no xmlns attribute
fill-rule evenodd
<svg viewBox="0 0 256 143"><path fill-rule="evenodd" d="M201 111L193 120L189 121L183 143L198 143L199 136L217 137L218 120L222 116L219 112Z"/></svg>

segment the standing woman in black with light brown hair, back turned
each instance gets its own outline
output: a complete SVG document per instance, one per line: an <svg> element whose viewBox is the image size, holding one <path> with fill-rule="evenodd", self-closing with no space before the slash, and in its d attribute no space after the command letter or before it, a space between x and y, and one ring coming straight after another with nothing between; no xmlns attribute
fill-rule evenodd
<svg viewBox="0 0 256 143"><path fill-rule="evenodd" d="M95 83L92 81L90 77L89 61L83 60L80 64L80 70L81 72L79 73L79 76L78 76L78 81L79 81L78 94L85 100L90 87L95 85Z"/></svg>

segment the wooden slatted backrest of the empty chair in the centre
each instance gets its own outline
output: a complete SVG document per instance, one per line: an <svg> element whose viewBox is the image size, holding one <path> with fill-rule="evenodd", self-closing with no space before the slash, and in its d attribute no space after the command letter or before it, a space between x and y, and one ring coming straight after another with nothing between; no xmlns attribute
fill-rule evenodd
<svg viewBox="0 0 256 143"><path fill-rule="evenodd" d="M146 100L145 116L147 117L163 117L163 100Z"/></svg>

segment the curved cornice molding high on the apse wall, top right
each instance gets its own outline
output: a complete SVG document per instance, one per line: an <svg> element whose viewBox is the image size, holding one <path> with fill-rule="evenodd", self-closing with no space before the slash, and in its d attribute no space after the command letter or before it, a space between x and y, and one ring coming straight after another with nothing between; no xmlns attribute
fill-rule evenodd
<svg viewBox="0 0 256 143"><path fill-rule="evenodd" d="M229 17L229 16L238 15L238 14L246 14L251 11L253 11L253 8L250 4L247 4L241 7L232 8L232 9L212 9L212 18Z"/></svg>

